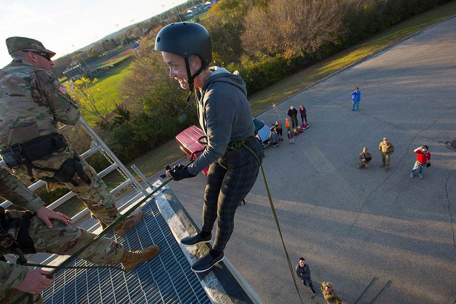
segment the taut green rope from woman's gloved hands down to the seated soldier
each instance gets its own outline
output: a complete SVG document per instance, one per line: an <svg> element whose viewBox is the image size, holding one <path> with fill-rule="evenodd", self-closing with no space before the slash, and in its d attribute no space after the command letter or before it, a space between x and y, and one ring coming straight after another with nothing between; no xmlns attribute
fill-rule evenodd
<svg viewBox="0 0 456 304"><path fill-rule="evenodd" d="M189 162L185 167L188 167L189 165L193 164L194 161ZM163 188L167 183L169 183L172 180L172 177L169 177L167 180L165 180L160 186L158 186L153 192L149 193L145 198L143 198L140 202L138 202L136 205L134 205L131 209L126 211L124 214L119 216L118 219L110 223L102 232L100 232L97 236L95 236L91 241L89 241L86 245L84 245L81 249L78 251L74 252L72 255L70 255L67 259L65 259L58 267L56 267L51 274L49 274L47 277L51 278L54 274L59 272L60 270L64 269L73 259L78 257L84 250L89 248L90 245L95 243L97 240L99 240L101 237L103 237L105 234L109 233L112 231L112 229L117 226L120 222L122 222L127 216L129 216L133 211L135 211L139 206L141 206L146 200L148 200L151 196L153 196L157 191L159 191L161 188ZM91 266L87 266L87 268L90 268ZM29 296L29 293L24 292L16 301L13 302L13 304L19 304L22 300L24 300L27 296Z"/></svg>

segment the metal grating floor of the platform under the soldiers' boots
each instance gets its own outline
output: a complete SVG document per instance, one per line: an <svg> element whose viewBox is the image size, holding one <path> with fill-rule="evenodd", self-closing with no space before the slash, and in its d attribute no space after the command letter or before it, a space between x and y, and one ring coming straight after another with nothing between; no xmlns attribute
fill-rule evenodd
<svg viewBox="0 0 456 304"><path fill-rule="evenodd" d="M201 303L211 301L174 239L154 201L145 205L144 220L125 236L108 238L138 250L159 245L155 259L128 273L112 269L65 270L43 291L45 304L73 303ZM90 265L77 259L72 265Z"/></svg>

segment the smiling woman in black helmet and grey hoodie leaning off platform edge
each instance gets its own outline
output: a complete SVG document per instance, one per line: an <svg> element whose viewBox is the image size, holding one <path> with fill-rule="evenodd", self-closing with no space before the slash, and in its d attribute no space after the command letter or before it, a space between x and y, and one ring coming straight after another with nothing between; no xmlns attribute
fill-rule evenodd
<svg viewBox="0 0 456 304"><path fill-rule="evenodd" d="M202 229L180 241L184 246L208 243L218 217L212 249L192 265L194 272L204 272L224 257L223 249L234 230L236 208L256 181L263 151L254 138L246 85L239 75L221 67L209 67L212 43L202 25L180 22L165 26L157 34L155 50L162 52L169 76L183 89L190 89L191 95L197 88L198 118L207 136L207 146L192 165L165 169L168 176L181 180L195 177L210 165ZM256 154L259 162L245 146Z"/></svg>

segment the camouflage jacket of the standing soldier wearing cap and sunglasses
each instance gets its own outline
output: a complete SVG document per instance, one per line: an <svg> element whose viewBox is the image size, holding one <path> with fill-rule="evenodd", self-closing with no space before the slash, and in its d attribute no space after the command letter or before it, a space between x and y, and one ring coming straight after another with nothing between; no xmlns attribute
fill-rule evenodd
<svg viewBox="0 0 456 304"><path fill-rule="evenodd" d="M75 125L78 105L58 79L22 59L0 69L0 149Z"/></svg>

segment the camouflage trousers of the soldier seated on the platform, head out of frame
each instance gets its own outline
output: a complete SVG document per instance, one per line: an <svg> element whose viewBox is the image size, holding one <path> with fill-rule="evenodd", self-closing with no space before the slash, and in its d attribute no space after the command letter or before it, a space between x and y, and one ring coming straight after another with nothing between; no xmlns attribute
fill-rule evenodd
<svg viewBox="0 0 456 304"><path fill-rule="evenodd" d="M6 211L5 213L8 218L22 217L23 214L23 212L16 210ZM86 230L74 227L71 223L65 225L63 222L54 219L51 219L51 222L52 228L49 229L46 224L37 216L34 216L30 221L28 233L37 252L71 255L75 251L78 251L83 246L85 246L96 236L95 234L89 233ZM16 238L17 231L17 228L13 228L8 231L8 234ZM9 250L11 249L12 245L12 241L8 238L0 241L0 246L3 246ZM118 244L110 239L103 237L88 247L85 251L83 251L79 257L84 258L85 260L94 264L117 264L119 263L123 253L124 247L122 244ZM3 256L4 254L4 252L0 251L0 256ZM2 266L6 264L7 267L13 267L11 264L4 262L2 262L2 264ZM9 280L11 285L8 285L17 285L15 283L18 281L21 282L25 278L25 274L26 273L22 272L21 275L13 278L12 281ZM2 279L3 278L0 278L0 281L2 281ZM12 303L23 294L22 291L16 288L8 288L8 286L2 287L4 289L0 289L0 303ZM32 303L43 303L40 294L35 294L32 296L32 298ZM29 298L21 303L29 303Z"/></svg>

